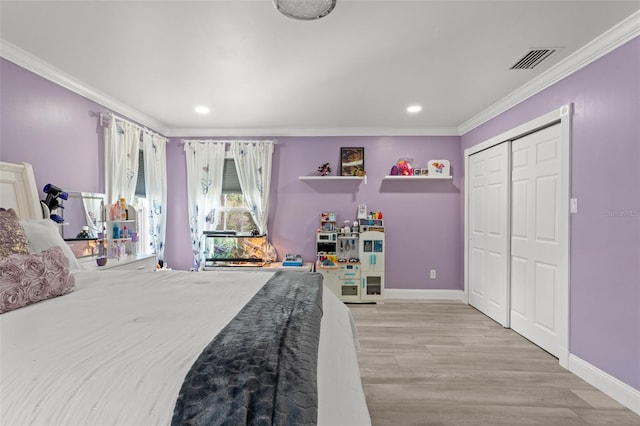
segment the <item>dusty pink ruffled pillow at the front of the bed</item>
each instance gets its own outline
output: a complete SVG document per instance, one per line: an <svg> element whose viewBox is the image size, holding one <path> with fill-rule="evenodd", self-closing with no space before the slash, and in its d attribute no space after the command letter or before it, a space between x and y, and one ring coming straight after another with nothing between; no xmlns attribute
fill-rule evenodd
<svg viewBox="0 0 640 426"><path fill-rule="evenodd" d="M73 291L62 248L0 258L0 314Z"/></svg>

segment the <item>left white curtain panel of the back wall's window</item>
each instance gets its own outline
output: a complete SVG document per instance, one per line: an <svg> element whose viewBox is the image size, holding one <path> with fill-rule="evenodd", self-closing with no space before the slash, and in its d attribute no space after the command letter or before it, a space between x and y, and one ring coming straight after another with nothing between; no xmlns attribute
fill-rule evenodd
<svg viewBox="0 0 640 426"><path fill-rule="evenodd" d="M202 232L215 230L222 195L225 143L185 141L193 270L204 267Z"/></svg>

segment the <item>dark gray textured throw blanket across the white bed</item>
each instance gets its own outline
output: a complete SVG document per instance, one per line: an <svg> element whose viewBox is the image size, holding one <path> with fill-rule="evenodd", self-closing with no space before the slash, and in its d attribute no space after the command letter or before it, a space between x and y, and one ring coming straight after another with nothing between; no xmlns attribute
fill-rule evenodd
<svg viewBox="0 0 640 426"><path fill-rule="evenodd" d="M172 425L315 425L322 276L278 271L187 373Z"/></svg>

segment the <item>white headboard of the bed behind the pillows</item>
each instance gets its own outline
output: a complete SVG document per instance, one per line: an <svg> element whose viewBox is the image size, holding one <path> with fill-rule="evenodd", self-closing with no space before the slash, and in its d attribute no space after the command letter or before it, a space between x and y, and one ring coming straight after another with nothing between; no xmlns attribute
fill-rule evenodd
<svg viewBox="0 0 640 426"><path fill-rule="evenodd" d="M31 164L0 162L0 207L14 209L20 220L43 218Z"/></svg>

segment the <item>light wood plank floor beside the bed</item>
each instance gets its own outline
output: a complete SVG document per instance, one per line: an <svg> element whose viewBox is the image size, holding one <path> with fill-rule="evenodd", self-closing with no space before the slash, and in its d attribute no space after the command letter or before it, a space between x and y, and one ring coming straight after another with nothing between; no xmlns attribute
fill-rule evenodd
<svg viewBox="0 0 640 426"><path fill-rule="evenodd" d="M348 306L374 425L640 425L640 416L468 305Z"/></svg>

